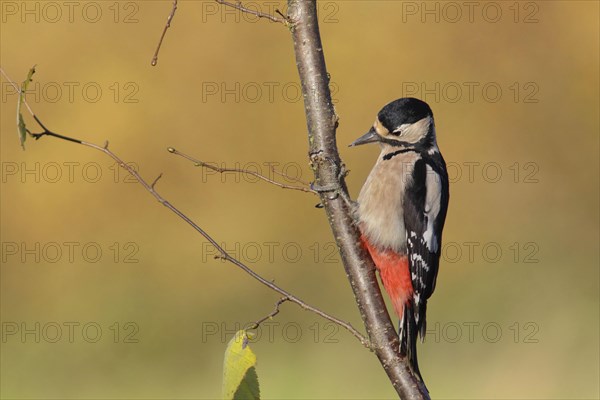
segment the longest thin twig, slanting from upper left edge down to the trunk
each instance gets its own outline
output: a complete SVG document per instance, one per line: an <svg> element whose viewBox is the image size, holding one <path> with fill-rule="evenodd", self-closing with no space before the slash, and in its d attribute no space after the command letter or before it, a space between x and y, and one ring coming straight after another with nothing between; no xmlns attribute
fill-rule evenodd
<svg viewBox="0 0 600 400"><path fill-rule="evenodd" d="M2 70L2 74L6 77L6 79L9 82L12 83L12 85L20 93L21 89L18 87L18 85L12 79L10 79L8 77L8 75L6 75L6 73L3 70ZM279 286L275 285L273 282L268 281L265 278L263 278L262 276L258 275L256 272L254 272L246 264L244 264L241 261L239 261L238 259L232 257L229 253L227 253L227 251L225 251L225 249L223 247L221 247L217 243L217 241L215 239L213 239L206 231L204 231L204 229L202 229L200 226L198 226L198 224L196 224L194 221L192 221L187 215L185 215L183 212L181 212L177 207L175 207L174 205L172 205L171 203L169 203L167 200L165 200L154 189L154 184L156 184L156 181L158 179L156 179L152 184L149 184L148 182L146 182L146 180L144 180L144 178L142 178L142 176L133 167L131 167L130 165L128 165L125 161L121 160L121 158L119 158L115 153L113 153L111 150L108 149L108 142L105 142L104 146L99 146L99 145L97 145L95 143L85 142L83 140L74 139L74 138L71 138L71 137L68 137L68 136L59 135L57 133L51 132L47 128L45 128L45 126L41 123L41 121L39 120L39 118L37 118L36 115L33 113L33 111L31 111L31 108L27 107L27 109L30 110L30 114L35 119L35 121L42 127L42 129L44 129L44 131L42 133L32 134L36 139L39 139L42 136L52 136L52 137L55 137L57 139L67 140L67 141L70 141L70 142L81 144L83 146L91 147L91 148L93 148L95 150L101 151L102 153L106 154L107 156L109 156L110 158L112 158L113 160L115 160L116 163L121 168L123 168L124 170L126 170L127 172L129 172L129 174L131 176L133 176L134 179L140 185L142 185L144 187L144 189L146 189L146 191L148 191L148 193L150 193L156 200L158 200L159 203L161 203L163 206L167 207L171 212L173 212L179 218L181 218L182 220L184 220L188 225L190 225L192 228L194 228L194 230L196 230L196 232L198 232L206 240L208 240L208 242L211 245L213 245L213 247L215 249L217 249L217 251L220 253L220 255L221 255L220 258L222 258L224 260L227 260L230 263L232 263L233 265L236 265L237 267L241 268L244 272L246 272L248 275L250 275L251 277L253 277L257 281L259 281L263 285L267 286L271 290L273 290L273 291L281 294L285 298L287 298L288 299L287 301L291 301L292 303L297 304L298 306L300 306L304 310L311 311L311 312L319 315L320 317L322 317L322 318L324 318L324 319L326 319L328 321L331 321L331 322L333 322L333 323L341 326L342 328L344 328L348 332L350 332L354 337L356 337L363 346L365 346L368 349L371 348L369 340L365 336L363 336L360 332L358 332L350 323L342 321L339 318L336 318L336 317L334 317L332 315L329 315L329 314L321 311L320 309L318 309L316 307L313 307L310 304L305 303L303 300L301 300L298 297L294 296L293 294L285 291L284 289L282 289Z"/></svg>

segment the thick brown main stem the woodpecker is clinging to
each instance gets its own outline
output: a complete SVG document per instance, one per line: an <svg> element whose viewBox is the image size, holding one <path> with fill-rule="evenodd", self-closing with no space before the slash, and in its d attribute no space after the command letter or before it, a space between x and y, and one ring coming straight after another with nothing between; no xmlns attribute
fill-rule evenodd
<svg viewBox="0 0 600 400"><path fill-rule="evenodd" d="M360 245L350 206L344 200L348 190L337 151L337 116L331 102L316 0L288 0L288 17L304 96L315 189L320 193L373 351L402 399L428 398L424 385L400 357L398 336L381 296L373 262Z"/></svg>

